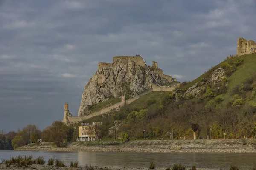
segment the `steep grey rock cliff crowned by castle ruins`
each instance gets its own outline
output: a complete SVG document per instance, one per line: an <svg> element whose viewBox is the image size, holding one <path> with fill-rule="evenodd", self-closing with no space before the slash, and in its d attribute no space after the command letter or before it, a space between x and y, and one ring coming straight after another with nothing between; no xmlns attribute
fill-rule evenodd
<svg viewBox="0 0 256 170"><path fill-rule="evenodd" d="M117 56L113 57L112 64L99 63L98 66L96 73L85 85L78 116L84 115L90 106L110 98L122 94L134 97L147 91L152 83L164 86L176 81L164 75L157 62L153 62L152 67L147 66L140 56Z"/></svg>

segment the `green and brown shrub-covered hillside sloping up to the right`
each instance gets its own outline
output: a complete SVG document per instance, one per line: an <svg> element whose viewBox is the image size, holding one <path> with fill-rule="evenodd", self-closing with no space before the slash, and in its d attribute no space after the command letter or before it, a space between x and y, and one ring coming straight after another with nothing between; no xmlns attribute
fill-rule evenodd
<svg viewBox="0 0 256 170"><path fill-rule="evenodd" d="M225 70L225 78L209 83L212 72ZM182 96L189 87L204 82L198 96ZM201 83L202 84L202 83ZM96 116L85 122L102 121L100 136L114 138L109 128L114 121L122 122L118 134L125 139L177 138L192 139L191 123L198 123L197 136L207 138L244 138L256 135L256 54L226 59L210 68L192 82L183 82L179 93L151 92L109 115ZM179 99L177 100L177 96ZM181 96L181 97L180 97ZM99 106L99 105L98 105ZM97 105L96 105L97 107Z"/></svg>

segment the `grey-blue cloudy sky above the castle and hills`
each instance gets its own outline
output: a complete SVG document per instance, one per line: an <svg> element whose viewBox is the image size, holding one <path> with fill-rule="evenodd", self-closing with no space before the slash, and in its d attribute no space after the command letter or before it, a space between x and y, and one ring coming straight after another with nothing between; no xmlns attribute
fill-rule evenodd
<svg viewBox="0 0 256 170"><path fill-rule="evenodd" d="M141 54L193 80L256 40L256 0L0 0L0 130L77 116L98 62Z"/></svg>

